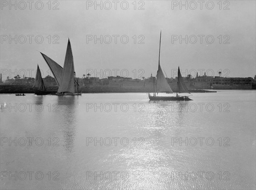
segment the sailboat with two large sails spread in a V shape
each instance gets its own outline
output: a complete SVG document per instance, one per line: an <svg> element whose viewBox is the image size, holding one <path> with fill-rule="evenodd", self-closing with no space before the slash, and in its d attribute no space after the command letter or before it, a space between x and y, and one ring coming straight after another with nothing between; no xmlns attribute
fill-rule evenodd
<svg viewBox="0 0 256 190"><path fill-rule="evenodd" d="M40 52L41 53L41 52ZM78 79L74 71L74 60L70 40L68 39L66 57L63 68L51 58L41 53L47 65L51 69L58 84L58 92L55 95L81 95L78 92Z"/></svg>

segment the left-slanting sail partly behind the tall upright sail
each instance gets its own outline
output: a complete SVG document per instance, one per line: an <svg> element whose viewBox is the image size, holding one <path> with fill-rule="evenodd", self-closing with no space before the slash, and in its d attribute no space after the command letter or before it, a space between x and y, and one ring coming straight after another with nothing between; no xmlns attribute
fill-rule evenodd
<svg viewBox="0 0 256 190"><path fill-rule="evenodd" d="M44 55L43 53L41 53L41 55L43 56L45 62L49 66L49 68L51 69L52 74L53 74L56 82L58 83L58 86L60 86L63 68L58 63L56 63L54 60L49 58L47 55Z"/></svg>

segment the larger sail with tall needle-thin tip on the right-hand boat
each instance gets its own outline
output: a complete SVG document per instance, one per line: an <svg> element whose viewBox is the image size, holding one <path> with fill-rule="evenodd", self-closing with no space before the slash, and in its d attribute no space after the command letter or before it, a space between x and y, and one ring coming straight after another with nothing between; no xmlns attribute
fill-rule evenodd
<svg viewBox="0 0 256 190"><path fill-rule="evenodd" d="M160 66L160 47L161 47L161 33L160 32L160 45L159 45L159 59L158 59L158 71L157 71L157 93L158 92L172 92L171 87L169 86L166 78L163 74L162 68Z"/></svg>

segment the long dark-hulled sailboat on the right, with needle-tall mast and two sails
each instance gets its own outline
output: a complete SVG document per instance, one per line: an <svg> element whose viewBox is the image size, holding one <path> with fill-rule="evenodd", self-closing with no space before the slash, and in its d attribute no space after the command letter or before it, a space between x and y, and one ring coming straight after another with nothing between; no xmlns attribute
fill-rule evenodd
<svg viewBox="0 0 256 190"><path fill-rule="evenodd" d="M176 96L157 96L157 94L159 92L173 93L169 83L166 81L166 78L163 74L163 70L160 66L161 33L162 33L162 31L160 32L158 70L157 70L157 77L156 77L157 82L156 82L156 85L155 85L155 82L154 82L154 95L151 96L148 93L148 98L151 101L189 101L189 100L191 100L189 97L178 95L178 93L189 93L188 89L186 88L186 86L183 82L182 76L180 74L180 67L178 68L178 81L177 81Z"/></svg>

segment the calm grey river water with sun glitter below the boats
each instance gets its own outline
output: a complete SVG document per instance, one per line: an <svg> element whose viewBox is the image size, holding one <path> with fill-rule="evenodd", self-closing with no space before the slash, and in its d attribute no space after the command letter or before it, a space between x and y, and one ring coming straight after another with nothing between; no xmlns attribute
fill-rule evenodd
<svg viewBox="0 0 256 190"><path fill-rule="evenodd" d="M0 188L255 189L256 91L191 98L1 94Z"/></svg>

